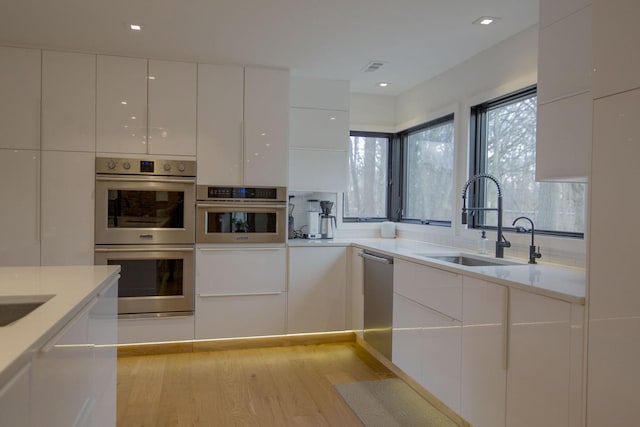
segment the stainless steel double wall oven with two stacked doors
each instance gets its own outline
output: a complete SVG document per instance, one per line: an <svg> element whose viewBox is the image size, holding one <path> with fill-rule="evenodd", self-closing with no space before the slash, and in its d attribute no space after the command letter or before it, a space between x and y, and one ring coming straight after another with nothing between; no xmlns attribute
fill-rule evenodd
<svg viewBox="0 0 640 427"><path fill-rule="evenodd" d="M96 158L96 264L121 266L120 317L193 314L194 161Z"/></svg>

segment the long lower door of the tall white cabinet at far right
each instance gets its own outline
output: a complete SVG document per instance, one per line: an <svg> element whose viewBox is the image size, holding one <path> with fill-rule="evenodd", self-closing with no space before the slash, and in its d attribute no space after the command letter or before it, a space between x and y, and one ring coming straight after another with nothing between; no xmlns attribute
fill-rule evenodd
<svg viewBox="0 0 640 427"><path fill-rule="evenodd" d="M612 11L603 9L597 19L608 20L606 14ZM598 73L596 76L600 78ZM635 257L640 231L625 226L621 232L612 232L611 224L640 209L636 196L639 122L640 89L594 103L588 260L589 426L634 425L640 419L640 287Z"/></svg>

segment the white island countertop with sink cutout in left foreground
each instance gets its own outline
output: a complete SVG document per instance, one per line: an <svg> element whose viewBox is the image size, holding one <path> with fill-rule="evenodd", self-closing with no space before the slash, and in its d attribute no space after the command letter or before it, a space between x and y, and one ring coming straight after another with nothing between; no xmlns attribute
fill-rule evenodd
<svg viewBox="0 0 640 427"><path fill-rule="evenodd" d="M0 301L41 295L46 303L10 325L0 327L0 384L24 358L42 347L83 306L97 296L120 266L2 267Z"/></svg>

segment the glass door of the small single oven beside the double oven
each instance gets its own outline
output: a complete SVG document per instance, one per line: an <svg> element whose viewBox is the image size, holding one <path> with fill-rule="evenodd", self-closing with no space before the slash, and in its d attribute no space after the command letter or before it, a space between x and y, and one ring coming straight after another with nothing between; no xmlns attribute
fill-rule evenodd
<svg viewBox="0 0 640 427"><path fill-rule="evenodd" d="M198 243L284 243L284 205L198 204Z"/></svg>

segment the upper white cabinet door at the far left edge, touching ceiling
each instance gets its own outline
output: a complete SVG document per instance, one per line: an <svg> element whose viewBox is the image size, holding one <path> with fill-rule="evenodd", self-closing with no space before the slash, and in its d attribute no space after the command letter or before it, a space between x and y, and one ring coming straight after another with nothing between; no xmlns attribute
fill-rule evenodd
<svg viewBox="0 0 640 427"><path fill-rule="evenodd" d="M40 148L40 51L0 47L0 148Z"/></svg>

